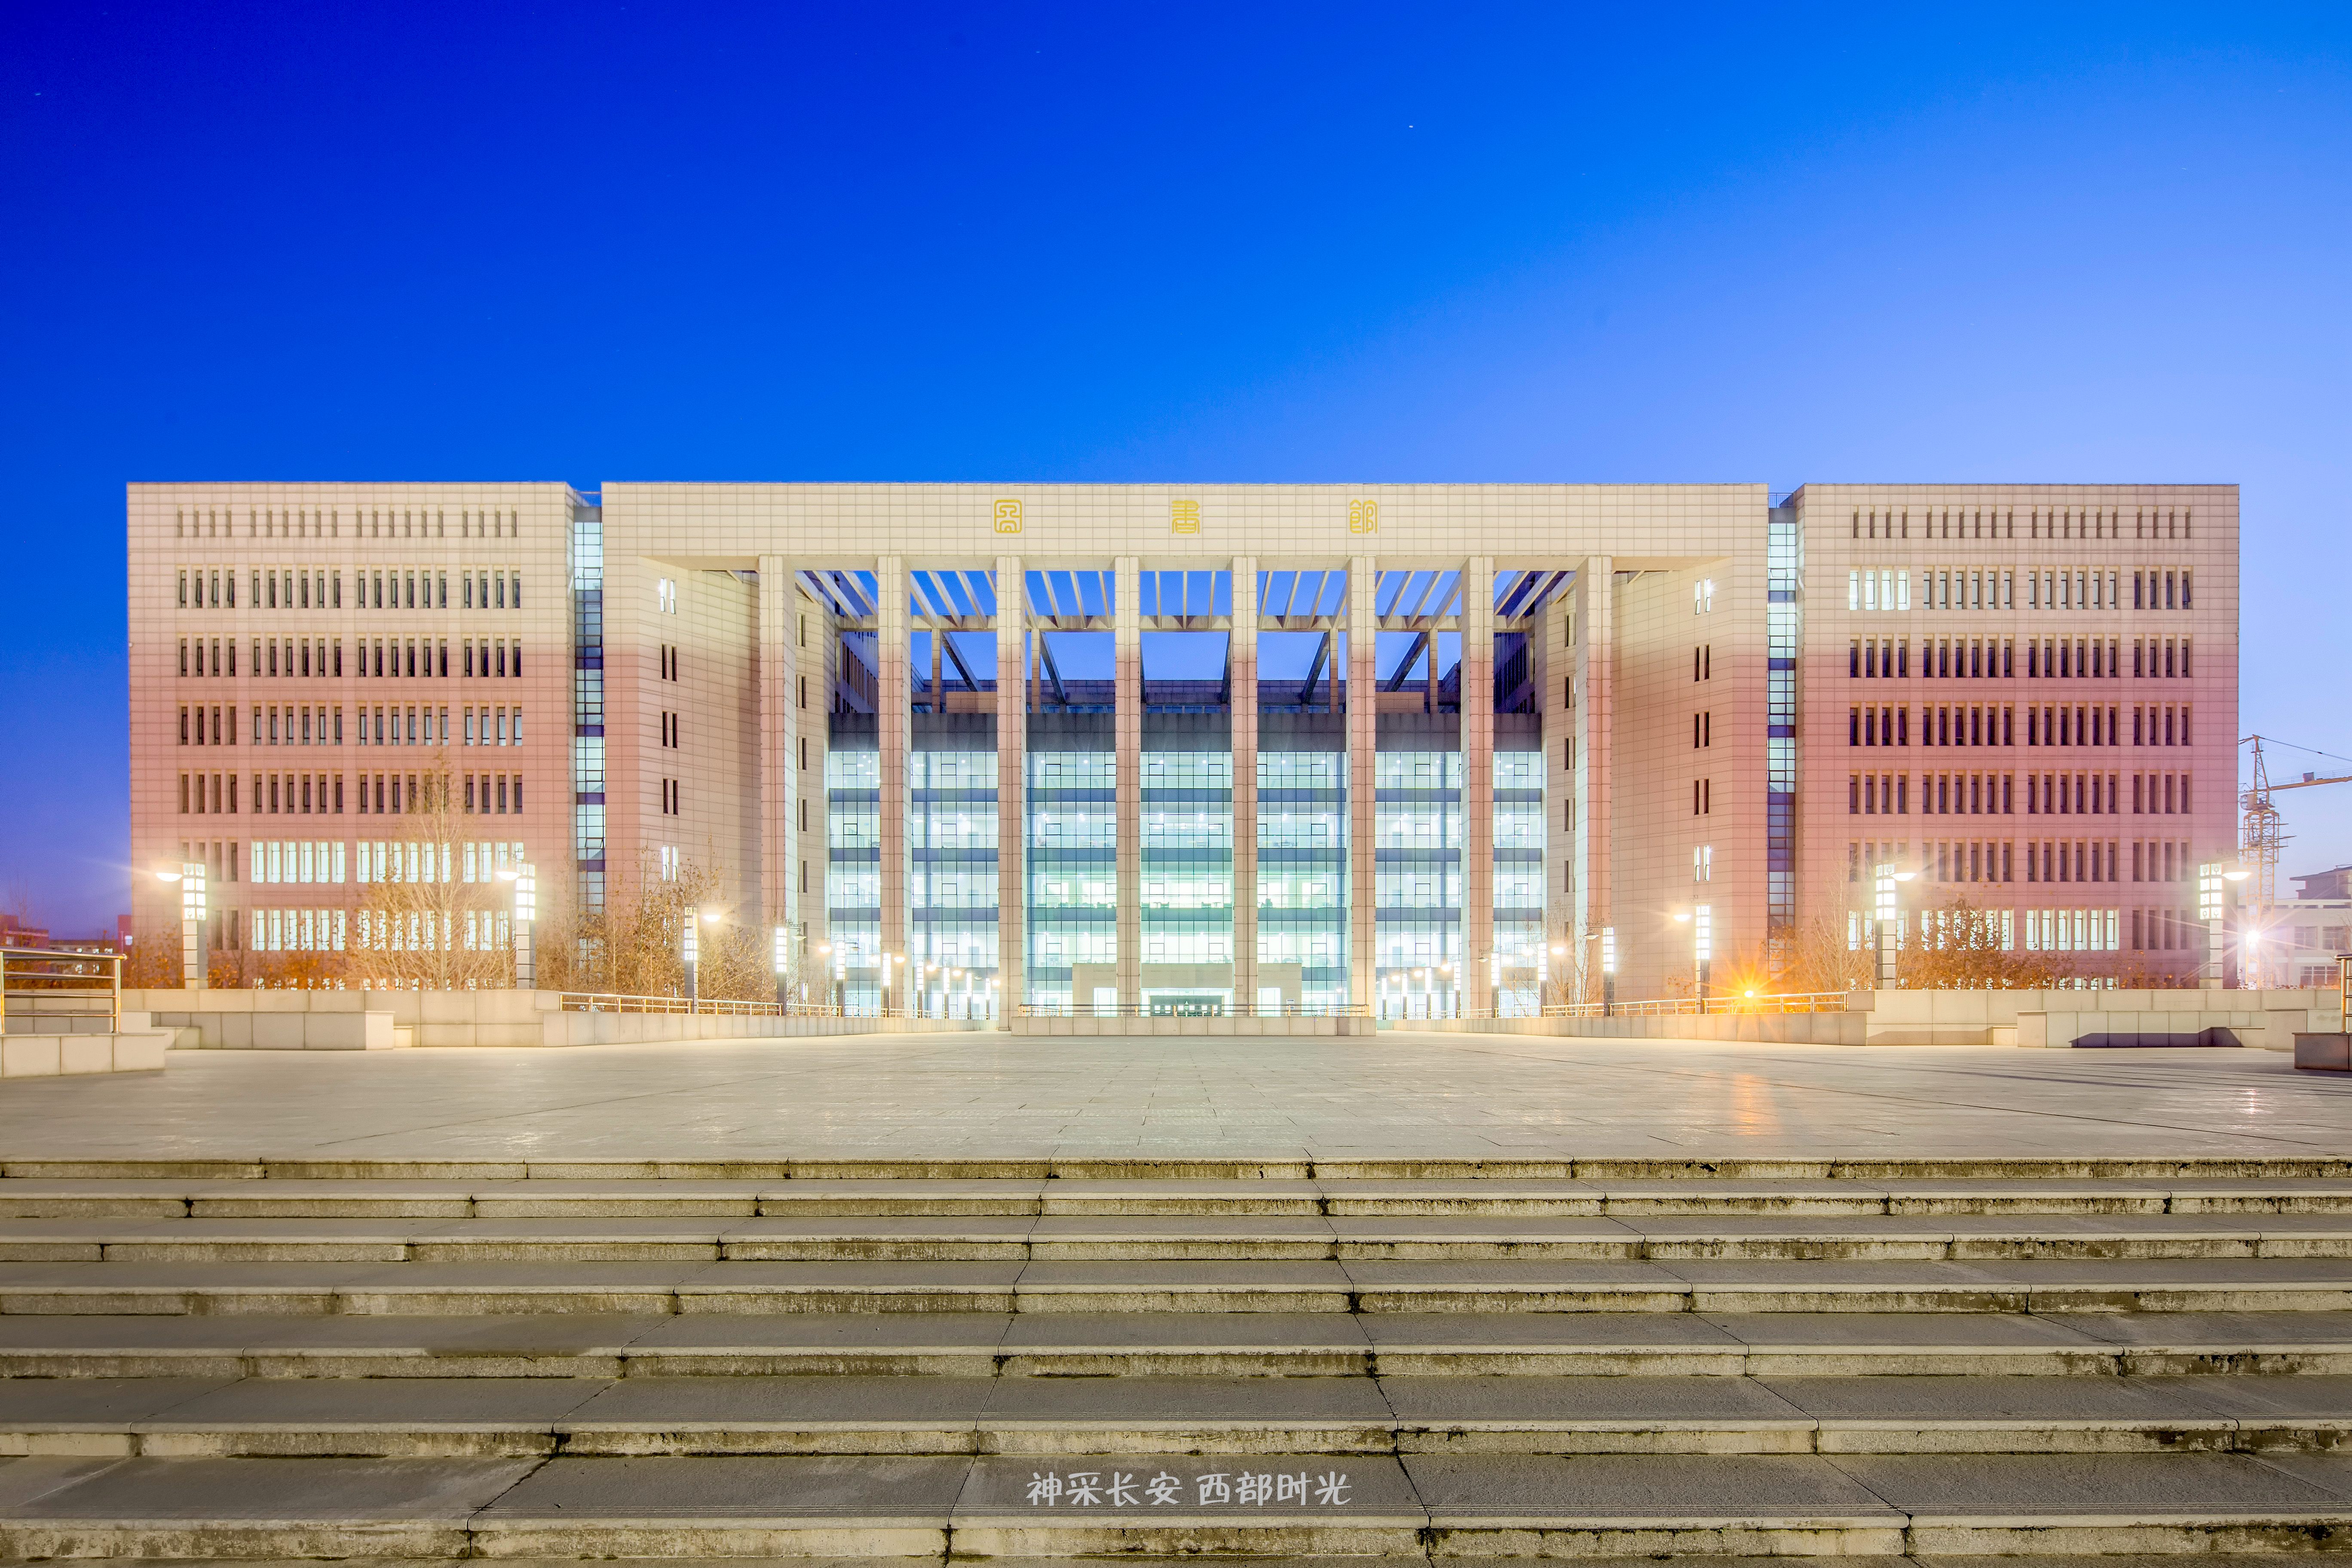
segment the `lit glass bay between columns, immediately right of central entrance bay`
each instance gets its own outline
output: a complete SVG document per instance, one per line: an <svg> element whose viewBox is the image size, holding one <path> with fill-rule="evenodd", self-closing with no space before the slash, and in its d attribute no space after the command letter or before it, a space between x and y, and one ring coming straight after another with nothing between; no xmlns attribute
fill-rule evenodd
<svg viewBox="0 0 2352 1568"><path fill-rule="evenodd" d="M1348 752L1258 752L1258 961L1298 964L1305 1011L1348 1001Z"/></svg>

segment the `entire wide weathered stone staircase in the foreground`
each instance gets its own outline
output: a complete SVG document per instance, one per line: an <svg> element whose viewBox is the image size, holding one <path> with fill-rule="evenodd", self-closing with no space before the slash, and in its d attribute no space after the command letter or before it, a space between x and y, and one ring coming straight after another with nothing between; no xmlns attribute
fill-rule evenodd
<svg viewBox="0 0 2352 1568"><path fill-rule="evenodd" d="M2352 1547L2352 1161L0 1171L7 1559Z"/></svg>

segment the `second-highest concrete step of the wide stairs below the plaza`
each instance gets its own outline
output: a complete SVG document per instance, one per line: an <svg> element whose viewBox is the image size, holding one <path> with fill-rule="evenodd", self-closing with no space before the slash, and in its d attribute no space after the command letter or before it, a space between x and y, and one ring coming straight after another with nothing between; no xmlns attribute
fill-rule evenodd
<svg viewBox="0 0 2352 1568"><path fill-rule="evenodd" d="M967 1164L833 1161L724 1175L675 1161L642 1171L449 1161L12 1161L0 1175L0 1218L2352 1215L2345 1161L2279 1161L2281 1173L2249 1171L2246 1161L2216 1161L2213 1173L2154 1173L2150 1161L2039 1161L2093 1173L2037 1173L2013 1161L1976 1161L1985 1166L1976 1175L1955 1173L1955 1161L1884 1161L1884 1171L1835 1178L1804 1175L1804 1161L1745 1161L1799 1171L1785 1175L1677 1161L1583 1161L1573 1175L1566 1161L1496 1161L1458 1173L1435 1161L1435 1173L1399 1175L1324 1166L1305 1175L1279 1161L1211 1173L1202 1173L1204 1161L1167 1161L1167 1168L1129 1161L1136 1175L974 1175ZM1635 1168L1585 1171L1585 1164ZM891 1173L863 1175L868 1168Z"/></svg>

